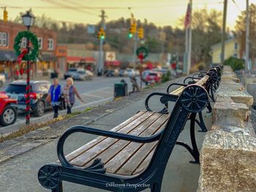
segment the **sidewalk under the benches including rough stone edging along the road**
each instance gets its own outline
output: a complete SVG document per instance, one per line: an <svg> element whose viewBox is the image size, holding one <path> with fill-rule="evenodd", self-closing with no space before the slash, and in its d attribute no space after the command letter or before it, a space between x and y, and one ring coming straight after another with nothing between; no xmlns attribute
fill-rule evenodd
<svg viewBox="0 0 256 192"><path fill-rule="evenodd" d="M175 82L179 81L181 81L181 79ZM74 118L54 123L49 125L50 128L34 131L30 134L26 134L24 137L1 143L1 157L3 157L3 155L14 155L15 153L17 155L26 150L29 150L29 152L18 155L0 164L0 191L47 191L37 182L37 171L41 166L58 160L56 155L56 138L59 137L65 129L79 124L109 130L124 120L127 120L127 118L132 115L135 115L139 110L145 110L144 101L148 93L154 91L165 92L169 83L170 82L165 83L156 88L146 89L142 93L135 93L132 96L110 102L109 104L97 107L90 112L75 116ZM154 105L154 109L157 110L159 102L154 101L151 104ZM207 117L205 120L206 126L211 126L211 117ZM203 133L196 133L199 148L200 144L203 142L203 136ZM88 134L72 135L67 139L65 154L90 142L94 138L94 136ZM182 131L179 140L189 143L189 123L187 123L186 128ZM42 146L38 147L38 145ZM33 147L37 148L30 150ZM26 150L24 150L24 148L26 148ZM167 169L165 170L162 191L196 191L200 166L197 164L189 164L190 160L192 160L192 156L189 155L184 147L176 146L174 148ZM102 190L64 182L64 191L91 192Z"/></svg>

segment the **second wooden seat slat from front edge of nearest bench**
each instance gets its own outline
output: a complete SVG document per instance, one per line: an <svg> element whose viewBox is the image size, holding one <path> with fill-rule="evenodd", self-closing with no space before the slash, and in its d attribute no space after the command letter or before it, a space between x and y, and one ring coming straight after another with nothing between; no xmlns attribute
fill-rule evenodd
<svg viewBox="0 0 256 192"><path fill-rule="evenodd" d="M129 123L127 126L124 126L124 128L122 128L120 132L129 133L153 114L154 112L144 113L139 118ZM84 164L87 164L89 161L91 161L92 158L95 158L97 154L102 153L104 150L108 149L108 147L114 145L116 142L118 142L118 139L108 137L102 142L99 142L97 145L94 145L94 147L91 147L89 150L84 151L81 155L70 161L70 163L75 166L83 166Z"/></svg>

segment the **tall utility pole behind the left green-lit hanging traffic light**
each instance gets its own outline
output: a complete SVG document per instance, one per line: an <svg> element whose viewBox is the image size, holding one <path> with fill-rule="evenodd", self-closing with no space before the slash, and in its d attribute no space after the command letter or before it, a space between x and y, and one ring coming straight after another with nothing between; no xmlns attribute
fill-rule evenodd
<svg viewBox="0 0 256 192"><path fill-rule="evenodd" d="M104 10L102 10L101 13L102 13L102 14L99 15L99 17L101 18L100 26L105 29L105 18L106 18L107 16L105 15L105 11L104 11ZM99 39L99 66L98 66L98 76L101 76L102 74L104 74L103 42L104 42L104 39L100 38L100 39Z"/></svg>

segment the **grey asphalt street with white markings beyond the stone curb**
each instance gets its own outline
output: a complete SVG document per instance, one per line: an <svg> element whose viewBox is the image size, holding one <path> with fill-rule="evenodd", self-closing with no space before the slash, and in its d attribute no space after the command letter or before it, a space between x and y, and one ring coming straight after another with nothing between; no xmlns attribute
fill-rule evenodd
<svg viewBox="0 0 256 192"><path fill-rule="evenodd" d="M84 110L87 107L105 104L106 101L112 100L113 85L121 79L124 79L128 83L128 91L132 91L132 85L131 82L129 82L129 77L94 77L94 80L92 81L75 81L75 86L78 88L78 92L85 102L82 103L76 99L75 106L72 110ZM139 78L137 79L139 81ZM61 85L64 85L65 81L61 80L60 83ZM4 90L4 88L0 89L0 91L2 90ZM62 110L59 113L60 115L64 115L66 111ZM31 122L39 123L45 120L50 120L51 118L53 118L53 111L48 110L45 112L45 115L40 118L33 117L32 115ZM0 126L0 134L8 134L12 131L18 130L20 125L23 124L25 124L25 114L18 112L18 119L15 124L6 127Z"/></svg>

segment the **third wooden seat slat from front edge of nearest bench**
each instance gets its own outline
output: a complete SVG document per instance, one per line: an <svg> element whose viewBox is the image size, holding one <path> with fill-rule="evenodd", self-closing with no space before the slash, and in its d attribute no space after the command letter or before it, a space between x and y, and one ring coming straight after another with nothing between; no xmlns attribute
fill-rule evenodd
<svg viewBox="0 0 256 192"><path fill-rule="evenodd" d="M146 120L145 122L140 124L140 126L138 126L134 130L129 132L129 134L140 135L140 134L144 133L144 131L146 131L146 129L149 126L151 126L152 123L154 123L156 120L158 120L160 117L161 117L160 113L155 113L150 118L148 118L148 120ZM108 161L110 161L116 154L118 154L121 150L124 150L124 147L127 147L127 145L129 145L129 143L131 143L131 142L120 139L118 142L115 143L115 145L112 145L107 150L103 151L102 153L99 153L97 156L102 159L102 162L104 164L107 164ZM94 161L94 159L89 161L87 164L84 164L83 166L89 166L90 164L92 164L93 161Z"/></svg>

